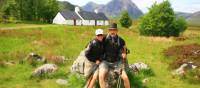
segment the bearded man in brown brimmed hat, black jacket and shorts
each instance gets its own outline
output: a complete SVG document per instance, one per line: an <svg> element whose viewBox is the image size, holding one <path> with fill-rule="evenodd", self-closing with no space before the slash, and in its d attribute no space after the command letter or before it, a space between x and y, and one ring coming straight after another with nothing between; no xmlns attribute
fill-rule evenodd
<svg viewBox="0 0 200 88"><path fill-rule="evenodd" d="M101 88L106 88L105 77L109 69L118 70L124 81L125 88L130 88L128 76L124 66L126 59L125 41L117 35L117 24L113 23L108 30L108 35L104 38L104 60L99 66L99 82Z"/></svg>

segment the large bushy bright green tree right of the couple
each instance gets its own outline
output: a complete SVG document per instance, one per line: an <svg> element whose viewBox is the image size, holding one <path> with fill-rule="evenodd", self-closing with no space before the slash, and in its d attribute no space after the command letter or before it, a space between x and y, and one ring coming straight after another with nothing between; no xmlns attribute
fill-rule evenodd
<svg viewBox="0 0 200 88"><path fill-rule="evenodd" d="M141 35L146 36L179 36L187 28L183 19L176 18L169 1L154 3L139 24Z"/></svg>

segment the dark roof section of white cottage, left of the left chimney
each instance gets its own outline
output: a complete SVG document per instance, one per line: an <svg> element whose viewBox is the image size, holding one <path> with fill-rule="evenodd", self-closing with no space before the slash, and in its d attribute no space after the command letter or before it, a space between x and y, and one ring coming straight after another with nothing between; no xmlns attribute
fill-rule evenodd
<svg viewBox="0 0 200 88"><path fill-rule="evenodd" d="M75 12L73 11L61 11L60 12L65 19L81 19Z"/></svg>

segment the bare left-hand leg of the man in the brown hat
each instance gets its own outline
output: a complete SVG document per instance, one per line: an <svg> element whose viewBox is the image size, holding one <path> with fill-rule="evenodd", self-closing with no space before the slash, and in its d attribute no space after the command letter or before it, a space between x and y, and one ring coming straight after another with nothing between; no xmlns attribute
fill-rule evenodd
<svg viewBox="0 0 200 88"><path fill-rule="evenodd" d="M102 62L99 66L99 84L101 88L106 88L105 77L108 73L108 65Z"/></svg>

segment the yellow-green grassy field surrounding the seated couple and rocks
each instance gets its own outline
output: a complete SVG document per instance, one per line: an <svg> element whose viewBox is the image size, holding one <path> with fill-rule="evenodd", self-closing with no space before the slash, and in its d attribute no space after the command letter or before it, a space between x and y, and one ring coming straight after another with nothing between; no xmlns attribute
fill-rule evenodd
<svg viewBox="0 0 200 88"><path fill-rule="evenodd" d="M1 24L2 25L2 24ZM2 25L0 27L8 27ZM76 58L85 45L94 37L97 28L92 26L56 26L0 30L0 66L3 62L14 61L12 66L0 67L0 88L66 88L56 84L56 79L66 79L72 61L59 65L59 70L48 79L30 79L35 69L29 64L19 64L30 52L40 55L62 55L70 59ZM120 28L121 35L130 49L129 63L145 62L150 65L155 76L149 77L147 88L199 88L200 84L192 84L178 77L172 77L163 50L170 46L182 44L200 44L200 28L189 27L183 36L184 41L174 38L158 38L140 36L136 27ZM77 88L77 87L71 87Z"/></svg>

